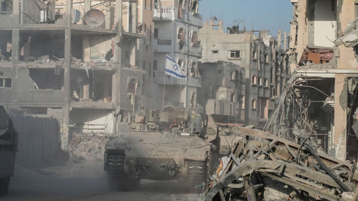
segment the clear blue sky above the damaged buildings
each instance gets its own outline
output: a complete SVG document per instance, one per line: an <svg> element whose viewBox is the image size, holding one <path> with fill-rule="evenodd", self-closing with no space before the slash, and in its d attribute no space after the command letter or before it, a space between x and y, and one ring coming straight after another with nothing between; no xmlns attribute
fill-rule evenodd
<svg viewBox="0 0 358 201"><path fill-rule="evenodd" d="M223 20L224 31L234 20L245 20L246 30L268 29L275 37L277 29L290 32L292 4L290 0L202 0L199 13L204 21L211 16ZM242 29L243 23L239 26Z"/></svg>

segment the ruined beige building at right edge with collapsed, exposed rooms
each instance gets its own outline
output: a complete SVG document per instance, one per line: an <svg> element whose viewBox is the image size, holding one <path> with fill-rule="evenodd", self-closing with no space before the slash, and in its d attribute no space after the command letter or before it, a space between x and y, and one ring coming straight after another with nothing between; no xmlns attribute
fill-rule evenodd
<svg viewBox="0 0 358 201"><path fill-rule="evenodd" d="M358 3L291 3L289 64L296 73L281 92L283 103L269 120L272 128L266 129L292 141L297 134L310 135L321 151L356 160ZM289 118L279 121L278 116Z"/></svg>

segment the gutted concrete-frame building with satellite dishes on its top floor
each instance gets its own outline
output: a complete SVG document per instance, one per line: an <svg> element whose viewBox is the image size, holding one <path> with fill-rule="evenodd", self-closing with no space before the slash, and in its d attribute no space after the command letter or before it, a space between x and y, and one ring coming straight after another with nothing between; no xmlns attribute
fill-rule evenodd
<svg viewBox="0 0 358 201"><path fill-rule="evenodd" d="M153 4L1 1L0 104L57 119L64 150L72 132L115 133L151 96Z"/></svg>

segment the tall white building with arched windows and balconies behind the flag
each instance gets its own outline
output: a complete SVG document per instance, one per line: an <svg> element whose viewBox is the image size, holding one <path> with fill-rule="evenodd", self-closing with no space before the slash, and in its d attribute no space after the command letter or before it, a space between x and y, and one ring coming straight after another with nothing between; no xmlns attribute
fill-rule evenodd
<svg viewBox="0 0 358 201"><path fill-rule="evenodd" d="M198 13L198 0L155 1L153 41L153 94L160 106L194 107L201 87L198 58L202 45L198 29L203 16ZM173 58L186 74L185 79L165 75L166 55ZM166 77L165 77L166 76ZM165 88L164 88L165 77ZM164 103L163 97L164 91Z"/></svg>

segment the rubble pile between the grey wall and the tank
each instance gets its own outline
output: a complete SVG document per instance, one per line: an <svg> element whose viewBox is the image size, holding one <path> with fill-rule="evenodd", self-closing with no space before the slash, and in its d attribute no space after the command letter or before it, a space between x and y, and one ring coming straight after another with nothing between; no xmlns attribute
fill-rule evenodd
<svg viewBox="0 0 358 201"><path fill-rule="evenodd" d="M103 161L103 153L108 136L101 132L73 133L70 142L70 162L92 163Z"/></svg>

